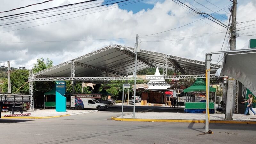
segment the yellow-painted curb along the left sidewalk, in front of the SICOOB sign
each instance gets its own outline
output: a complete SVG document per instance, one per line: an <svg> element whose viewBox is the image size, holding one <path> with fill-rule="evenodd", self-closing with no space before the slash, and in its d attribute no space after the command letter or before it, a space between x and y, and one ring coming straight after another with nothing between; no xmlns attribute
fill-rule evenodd
<svg viewBox="0 0 256 144"><path fill-rule="evenodd" d="M39 116L11 116L11 117L2 117L2 119L12 119L12 118L19 118L19 119L47 119L47 118L56 118L56 117L64 117L64 116L87 114L87 113L93 113L93 112L98 112L98 110L86 111L86 112L74 113L74 114L67 114L67 115L60 115L60 116L44 116L44 117L39 117Z"/></svg>

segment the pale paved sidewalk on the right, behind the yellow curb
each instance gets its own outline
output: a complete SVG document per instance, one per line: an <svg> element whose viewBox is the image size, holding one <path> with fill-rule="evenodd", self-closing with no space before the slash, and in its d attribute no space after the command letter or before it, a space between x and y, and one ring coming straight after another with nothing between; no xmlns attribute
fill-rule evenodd
<svg viewBox="0 0 256 144"><path fill-rule="evenodd" d="M124 115L124 119L133 119L133 113ZM224 120L225 114L210 114L210 120ZM117 118L122 118L118 116ZM135 119L166 119L166 120L205 120L205 114L195 113L159 113L159 112L136 112ZM233 115L234 121L256 121L256 116Z"/></svg>

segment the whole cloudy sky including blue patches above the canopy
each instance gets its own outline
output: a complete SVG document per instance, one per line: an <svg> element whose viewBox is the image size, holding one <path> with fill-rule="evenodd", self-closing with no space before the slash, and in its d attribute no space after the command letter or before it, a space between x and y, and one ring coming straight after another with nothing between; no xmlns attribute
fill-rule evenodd
<svg viewBox="0 0 256 144"><path fill-rule="evenodd" d="M2 0L0 11L43 1L46 0ZM54 0L0 13L0 17L83 1ZM116 3L119 1L122 0L98 0L20 17L0 18L0 62L11 61L12 67L31 68L36 59L43 57L52 59L57 65L111 44L134 47L136 34L140 36L141 49L190 59L204 61L206 52L221 50L227 29L211 20L202 19L202 16L172 0ZM180 1L202 13L214 13L213 17L228 25L231 1ZM240 36L237 38L237 49L248 48L249 39L256 38L245 36L256 34L256 21L250 21L256 20L256 3L254 0L238 0L237 7ZM46 16L50 17L42 18ZM183 25L186 26L177 28ZM224 42L222 48L226 49L229 49L228 41ZM213 61L217 59L218 56L213 57Z"/></svg>

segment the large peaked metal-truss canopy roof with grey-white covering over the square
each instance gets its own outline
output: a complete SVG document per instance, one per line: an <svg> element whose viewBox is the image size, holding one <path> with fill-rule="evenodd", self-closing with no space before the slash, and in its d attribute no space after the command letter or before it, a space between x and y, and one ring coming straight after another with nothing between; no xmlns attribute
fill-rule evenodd
<svg viewBox="0 0 256 144"><path fill-rule="evenodd" d="M134 48L121 45L110 45L81 57L63 62L34 74L36 78L57 77L119 77L127 76L134 71ZM178 69L182 74L197 75L205 73L205 62L172 56L159 52L140 50L138 53L137 71L154 67L167 70ZM211 64L214 73L220 65ZM85 78L86 79L86 78Z"/></svg>

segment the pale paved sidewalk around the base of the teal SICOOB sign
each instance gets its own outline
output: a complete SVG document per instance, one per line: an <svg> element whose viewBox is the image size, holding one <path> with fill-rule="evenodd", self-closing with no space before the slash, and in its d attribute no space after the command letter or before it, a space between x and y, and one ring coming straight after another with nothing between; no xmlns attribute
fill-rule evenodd
<svg viewBox="0 0 256 144"><path fill-rule="evenodd" d="M52 117L52 116L63 116L63 115L78 115L84 113L98 112L97 110L72 110L67 109L67 112L56 112L55 109L35 109L34 111L24 111L23 114L30 113L30 116L17 116L22 117ZM4 115L10 115L10 112L2 113L2 117ZM20 114L20 112L15 112L14 114Z"/></svg>

